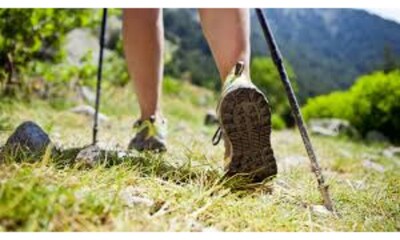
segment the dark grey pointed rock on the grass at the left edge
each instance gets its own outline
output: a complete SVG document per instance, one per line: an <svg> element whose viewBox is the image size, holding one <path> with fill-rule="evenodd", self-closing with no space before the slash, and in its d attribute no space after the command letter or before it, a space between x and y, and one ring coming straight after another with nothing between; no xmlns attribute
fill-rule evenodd
<svg viewBox="0 0 400 240"><path fill-rule="evenodd" d="M29 153L42 153L50 143L49 136L39 125L26 121L11 134L4 145L4 150L13 151L22 148Z"/></svg>

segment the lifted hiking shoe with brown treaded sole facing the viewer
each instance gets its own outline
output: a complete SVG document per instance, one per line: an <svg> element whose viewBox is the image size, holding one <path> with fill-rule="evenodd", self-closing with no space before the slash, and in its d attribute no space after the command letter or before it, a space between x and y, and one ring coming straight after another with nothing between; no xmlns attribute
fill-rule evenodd
<svg viewBox="0 0 400 240"><path fill-rule="evenodd" d="M225 142L225 171L261 182L277 174L271 148L271 110L264 94L243 73L239 62L228 75L217 114L220 127L213 137Z"/></svg>

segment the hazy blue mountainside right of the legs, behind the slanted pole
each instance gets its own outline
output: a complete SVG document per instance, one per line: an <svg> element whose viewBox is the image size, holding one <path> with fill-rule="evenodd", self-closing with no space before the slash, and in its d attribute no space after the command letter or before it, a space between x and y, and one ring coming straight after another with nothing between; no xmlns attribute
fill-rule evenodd
<svg viewBox="0 0 400 240"><path fill-rule="evenodd" d="M352 85L381 69L384 51L400 56L400 25L362 10L266 9L283 56L298 76L302 98ZM266 52L252 13L253 55Z"/></svg>

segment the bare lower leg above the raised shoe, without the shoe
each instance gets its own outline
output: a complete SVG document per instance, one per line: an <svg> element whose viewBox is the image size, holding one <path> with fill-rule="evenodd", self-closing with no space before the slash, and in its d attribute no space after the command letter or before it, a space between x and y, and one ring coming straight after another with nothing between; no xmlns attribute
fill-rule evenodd
<svg viewBox="0 0 400 240"><path fill-rule="evenodd" d="M221 79L238 61L249 75L250 14L248 9L199 9L201 25L211 47Z"/></svg>

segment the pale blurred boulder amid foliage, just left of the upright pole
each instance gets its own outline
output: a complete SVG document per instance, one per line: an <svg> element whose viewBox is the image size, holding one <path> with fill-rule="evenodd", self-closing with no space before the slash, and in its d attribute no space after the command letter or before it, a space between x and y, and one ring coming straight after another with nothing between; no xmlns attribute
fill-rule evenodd
<svg viewBox="0 0 400 240"><path fill-rule="evenodd" d="M72 65L81 65L82 58L89 54L89 62L97 64L100 44L90 29L76 28L69 32L65 39L67 61Z"/></svg>

